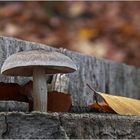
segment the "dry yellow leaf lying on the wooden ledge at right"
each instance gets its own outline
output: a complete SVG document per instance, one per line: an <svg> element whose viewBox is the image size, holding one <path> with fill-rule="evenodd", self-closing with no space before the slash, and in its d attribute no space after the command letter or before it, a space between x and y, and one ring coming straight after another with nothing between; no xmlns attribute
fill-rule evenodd
<svg viewBox="0 0 140 140"><path fill-rule="evenodd" d="M140 100L109 95L101 92L97 92L97 94L104 99L106 108L111 108L120 115L140 115ZM101 105L100 109L104 109L108 112L106 108L103 108L103 106L105 105ZM90 105L90 107L94 108L95 103Z"/></svg>

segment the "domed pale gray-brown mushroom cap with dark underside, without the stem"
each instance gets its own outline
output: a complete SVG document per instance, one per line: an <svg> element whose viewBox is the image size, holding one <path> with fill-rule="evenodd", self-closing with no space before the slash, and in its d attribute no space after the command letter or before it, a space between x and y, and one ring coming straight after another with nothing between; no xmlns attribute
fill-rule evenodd
<svg viewBox="0 0 140 140"><path fill-rule="evenodd" d="M46 74L77 70L74 62L62 53L31 50L9 56L1 68L1 73L9 76L32 76L34 68L44 68Z"/></svg>

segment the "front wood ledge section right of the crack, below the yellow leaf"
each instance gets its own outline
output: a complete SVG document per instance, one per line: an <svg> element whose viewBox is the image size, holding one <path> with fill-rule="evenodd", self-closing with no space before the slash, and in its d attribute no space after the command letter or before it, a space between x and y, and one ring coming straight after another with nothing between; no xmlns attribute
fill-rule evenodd
<svg viewBox="0 0 140 140"><path fill-rule="evenodd" d="M62 114L61 124L71 139L140 138L140 118L110 114Z"/></svg>

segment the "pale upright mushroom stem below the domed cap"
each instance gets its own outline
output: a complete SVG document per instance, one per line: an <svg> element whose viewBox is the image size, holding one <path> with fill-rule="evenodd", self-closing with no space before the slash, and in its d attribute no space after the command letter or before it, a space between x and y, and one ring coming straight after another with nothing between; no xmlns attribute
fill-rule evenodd
<svg viewBox="0 0 140 140"><path fill-rule="evenodd" d="M43 68L33 70L33 102L35 111L47 112L47 83Z"/></svg>

